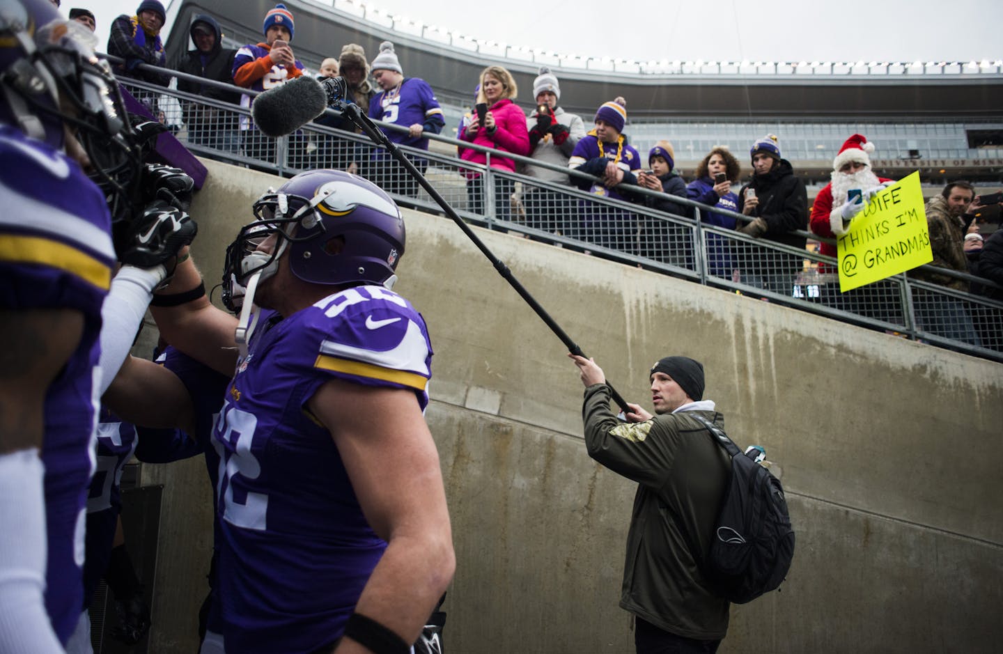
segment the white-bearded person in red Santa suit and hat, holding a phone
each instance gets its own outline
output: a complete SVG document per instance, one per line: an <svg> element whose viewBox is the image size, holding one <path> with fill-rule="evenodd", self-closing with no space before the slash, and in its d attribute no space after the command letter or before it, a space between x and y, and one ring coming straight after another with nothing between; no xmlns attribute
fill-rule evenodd
<svg viewBox="0 0 1003 654"><path fill-rule="evenodd" d="M868 141L863 134L854 134L843 143L839 154L832 159L831 182L818 192L814 204L811 205L810 229L812 234L835 239L847 233L851 221L865 208L876 194L895 184L895 180L879 178L871 170L871 152L875 151L874 143ZM851 198L851 191L856 191ZM835 244L822 243L819 254L829 257L837 256ZM835 273L835 269L826 264L818 265L820 273ZM867 311L868 304L861 302L864 298L851 297L859 295L856 290L848 294L839 292L839 283L833 281L820 287L823 304L854 313L873 314ZM875 309L876 307L871 307ZM872 317L882 317L872 315Z"/></svg>

